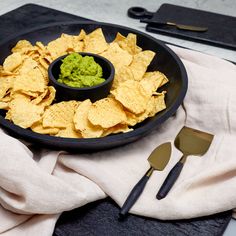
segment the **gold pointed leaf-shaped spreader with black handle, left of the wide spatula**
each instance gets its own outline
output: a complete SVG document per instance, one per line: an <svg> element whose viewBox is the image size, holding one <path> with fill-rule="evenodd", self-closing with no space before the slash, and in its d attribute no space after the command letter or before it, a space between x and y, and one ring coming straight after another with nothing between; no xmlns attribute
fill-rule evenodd
<svg viewBox="0 0 236 236"><path fill-rule="evenodd" d="M129 209L133 206L133 204L137 201L137 199L143 192L143 189L147 181L149 180L149 177L151 176L152 172L154 170L162 171L169 162L170 156L170 142L163 143L152 151L151 155L148 157L148 162L151 167L131 190L124 205L121 207L120 217L124 217L128 213Z"/></svg>

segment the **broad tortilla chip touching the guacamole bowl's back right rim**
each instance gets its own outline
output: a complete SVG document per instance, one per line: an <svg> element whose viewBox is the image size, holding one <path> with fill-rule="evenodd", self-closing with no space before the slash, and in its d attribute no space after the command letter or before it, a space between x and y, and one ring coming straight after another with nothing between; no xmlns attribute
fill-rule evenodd
<svg viewBox="0 0 236 236"><path fill-rule="evenodd" d="M111 43L108 49L101 53L101 56L107 58L114 65L116 70L123 66L128 66L132 62L132 55L122 49L118 43Z"/></svg>

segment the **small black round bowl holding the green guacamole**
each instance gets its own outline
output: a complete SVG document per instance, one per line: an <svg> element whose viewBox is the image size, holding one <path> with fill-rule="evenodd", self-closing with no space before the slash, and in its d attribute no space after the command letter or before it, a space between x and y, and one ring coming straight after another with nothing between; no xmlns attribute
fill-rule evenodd
<svg viewBox="0 0 236 236"><path fill-rule="evenodd" d="M105 81L96 86L84 88L71 87L58 82L57 79L59 78L62 59L69 54L63 55L54 60L48 68L49 84L56 89L57 102L69 100L83 101L86 99L90 99L92 102L95 102L96 100L107 97L110 92L115 75L115 68L112 63L97 54L84 52L79 52L79 54L82 56L92 56L94 58L94 61L102 67L103 78Z"/></svg>

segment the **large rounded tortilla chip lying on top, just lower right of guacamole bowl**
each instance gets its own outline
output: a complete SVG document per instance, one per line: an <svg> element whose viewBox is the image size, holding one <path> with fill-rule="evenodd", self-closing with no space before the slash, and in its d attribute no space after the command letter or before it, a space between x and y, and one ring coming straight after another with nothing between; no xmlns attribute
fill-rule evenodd
<svg viewBox="0 0 236 236"><path fill-rule="evenodd" d="M126 109L135 114L145 111L150 98L140 83L134 80L127 80L121 83L111 93Z"/></svg>

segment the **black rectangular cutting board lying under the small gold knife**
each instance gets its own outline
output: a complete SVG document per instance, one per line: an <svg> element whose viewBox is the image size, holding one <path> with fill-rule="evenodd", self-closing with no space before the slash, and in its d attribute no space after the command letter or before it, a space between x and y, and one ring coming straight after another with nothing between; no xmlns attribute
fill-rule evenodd
<svg viewBox="0 0 236 236"><path fill-rule="evenodd" d="M236 17L163 4L153 14L152 20L208 27L206 32L191 32L170 26L154 27L148 24L146 30L236 50Z"/></svg>

